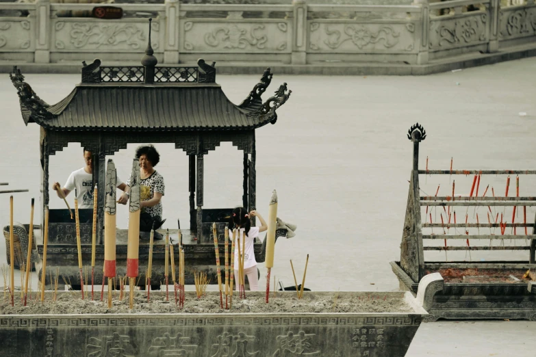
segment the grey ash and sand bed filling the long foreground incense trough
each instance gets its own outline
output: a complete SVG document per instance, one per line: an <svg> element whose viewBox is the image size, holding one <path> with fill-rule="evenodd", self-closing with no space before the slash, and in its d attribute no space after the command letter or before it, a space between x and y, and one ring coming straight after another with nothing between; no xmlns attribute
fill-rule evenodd
<svg viewBox="0 0 536 357"><path fill-rule="evenodd" d="M303 298L296 297L296 293L279 293L273 297L270 293L270 302L266 304L264 293L247 293L246 299L240 300L233 295L233 304L230 310L220 308L220 295L217 292L207 292L207 295L197 299L192 292L186 293L184 308L175 306L175 294L170 291L169 301L166 293L154 291L151 301L147 302L145 291L136 291L133 308L129 308L129 295L126 292L123 300L114 292L112 308L107 307L107 293L105 301L92 301L86 295L81 300L80 291L60 292L57 301L53 302L50 293L44 302L29 300L27 306L16 299L15 306L8 300L0 300L0 315L60 315L60 314L153 314L153 313L411 313L402 294L375 294L375 293L310 293L304 292ZM99 294L96 294L100 296ZM17 296L18 297L18 296ZM97 297L98 298L98 297ZM225 295L223 296L225 306Z"/></svg>

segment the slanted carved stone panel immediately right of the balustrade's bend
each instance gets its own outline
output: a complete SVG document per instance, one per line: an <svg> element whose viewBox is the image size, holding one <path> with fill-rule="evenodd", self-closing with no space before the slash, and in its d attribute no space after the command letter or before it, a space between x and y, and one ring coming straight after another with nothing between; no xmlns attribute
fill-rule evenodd
<svg viewBox="0 0 536 357"><path fill-rule="evenodd" d="M489 16L485 12L474 15L449 16L430 21L430 49L444 50L468 47L489 40Z"/></svg>

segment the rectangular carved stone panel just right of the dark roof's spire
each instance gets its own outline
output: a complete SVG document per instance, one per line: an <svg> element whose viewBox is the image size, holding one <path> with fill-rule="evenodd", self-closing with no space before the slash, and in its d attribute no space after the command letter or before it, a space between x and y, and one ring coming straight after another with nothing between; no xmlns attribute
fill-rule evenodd
<svg viewBox="0 0 536 357"><path fill-rule="evenodd" d="M290 53L288 21L181 21L184 52Z"/></svg>

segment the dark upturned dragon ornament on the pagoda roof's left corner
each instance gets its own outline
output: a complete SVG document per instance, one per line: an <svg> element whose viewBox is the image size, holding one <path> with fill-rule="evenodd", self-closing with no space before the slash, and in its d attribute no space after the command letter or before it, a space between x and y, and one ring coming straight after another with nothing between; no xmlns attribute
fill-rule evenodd
<svg viewBox="0 0 536 357"><path fill-rule="evenodd" d="M37 96L36 92L31 89L31 86L24 81L24 76L21 73L21 70L16 66L13 66L13 70L10 73L10 79L17 90L18 98L21 102L21 110L24 107L30 111L30 116L23 113L23 119L26 125L30 119L39 122L42 120L50 120L55 117L47 110L50 105Z"/></svg>

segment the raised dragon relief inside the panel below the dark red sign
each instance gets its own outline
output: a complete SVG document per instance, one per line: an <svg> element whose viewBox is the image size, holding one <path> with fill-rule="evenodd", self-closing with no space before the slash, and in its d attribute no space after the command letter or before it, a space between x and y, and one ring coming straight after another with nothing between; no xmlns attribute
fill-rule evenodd
<svg viewBox="0 0 536 357"><path fill-rule="evenodd" d="M73 23L69 35L71 44L76 49L88 46L116 47L120 44L126 44L130 49L139 49L146 41L146 35L142 29L136 25L124 24ZM65 47L63 42L58 45L61 48ZM157 49L158 44L151 43L151 46Z"/></svg>

